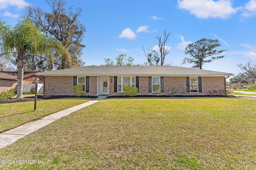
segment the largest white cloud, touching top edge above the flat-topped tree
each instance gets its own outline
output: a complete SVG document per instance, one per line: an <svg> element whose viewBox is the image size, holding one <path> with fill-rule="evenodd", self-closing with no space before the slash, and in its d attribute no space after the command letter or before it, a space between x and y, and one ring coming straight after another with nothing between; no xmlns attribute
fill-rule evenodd
<svg viewBox="0 0 256 170"><path fill-rule="evenodd" d="M178 7L185 9L197 18L228 18L236 10L231 6L230 0L178 0Z"/></svg>

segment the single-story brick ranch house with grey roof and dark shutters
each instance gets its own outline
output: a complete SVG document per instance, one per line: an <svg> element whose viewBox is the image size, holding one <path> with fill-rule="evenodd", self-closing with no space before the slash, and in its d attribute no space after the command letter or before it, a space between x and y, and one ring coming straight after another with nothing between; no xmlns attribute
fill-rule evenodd
<svg viewBox="0 0 256 170"><path fill-rule="evenodd" d="M83 85L85 96L122 96L125 86L136 86L138 95L209 95L212 90L226 90L226 78L234 74L179 66L84 66L36 75L44 77L44 92L74 95L72 86Z"/></svg>

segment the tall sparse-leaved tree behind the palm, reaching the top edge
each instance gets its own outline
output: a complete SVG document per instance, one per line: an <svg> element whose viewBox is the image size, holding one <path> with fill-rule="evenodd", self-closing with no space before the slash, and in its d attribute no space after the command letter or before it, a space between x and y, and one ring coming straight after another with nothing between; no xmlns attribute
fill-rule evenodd
<svg viewBox="0 0 256 170"><path fill-rule="evenodd" d="M81 59L81 55L82 48L85 45L82 44L82 38L84 37L83 34L86 32L86 28L78 21L82 13L82 8L76 8L76 11L72 12L72 7L68 10L64 8L66 5L65 0L45 1L52 8L52 13L44 12L39 7L26 6L26 14L38 29L59 40L69 55L63 55L61 58L54 56L54 60L50 62L43 58L38 60L35 56L31 56L31 60L39 61L40 64L47 63L48 66L41 66L42 69L45 67L46 70L54 69L52 65L57 65L57 69L83 66L84 62Z"/></svg>

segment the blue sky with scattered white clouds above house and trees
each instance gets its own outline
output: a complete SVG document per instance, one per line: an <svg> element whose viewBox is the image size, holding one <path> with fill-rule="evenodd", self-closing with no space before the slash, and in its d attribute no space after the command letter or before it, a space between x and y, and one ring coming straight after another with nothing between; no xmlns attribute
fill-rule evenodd
<svg viewBox="0 0 256 170"><path fill-rule="evenodd" d="M120 54L145 63L142 51L157 45L164 29L170 32L166 62L181 64L189 43L218 39L226 49L223 59L203 65L205 70L238 74L236 64L256 64L256 0L66 0L66 7L82 8L80 22L86 27L82 60L86 65L104 64L104 58ZM0 18L15 25L24 6L40 6L50 12L44 0L0 0Z"/></svg>

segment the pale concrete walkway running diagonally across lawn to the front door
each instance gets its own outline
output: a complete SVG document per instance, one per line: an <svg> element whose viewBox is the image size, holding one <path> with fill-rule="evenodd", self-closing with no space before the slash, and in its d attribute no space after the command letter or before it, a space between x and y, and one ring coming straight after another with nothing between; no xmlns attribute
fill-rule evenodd
<svg viewBox="0 0 256 170"><path fill-rule="evenodd" d="M94 100L90 100L83 104L79 104L77 106L73 106L68 109L64 109L62 111L58 111L58 112L48 115L46 117L42 117L39 120L26 123L24 125L16 127L14 129L11 129L10 131L1 133L0 134L0 148L6 147L7 145L10 145L10 144L16 142L18 139L60 119L61 117L69 115L70 113L77 111L79 109L82 109L86 106L90 106L91 104L94 104L106 97L107 96L99 96L98 98L96 98Z"/></svg>

